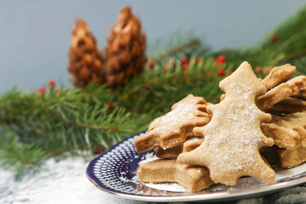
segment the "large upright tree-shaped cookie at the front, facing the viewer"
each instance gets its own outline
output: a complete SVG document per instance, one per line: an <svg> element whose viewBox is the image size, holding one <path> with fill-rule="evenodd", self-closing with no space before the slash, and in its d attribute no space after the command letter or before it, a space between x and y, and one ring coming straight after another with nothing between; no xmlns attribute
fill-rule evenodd
<svg viewBox="0 0 306 204"><path fill-rule="evenodd" d="M261 131L261 123L271 115L258 109L256 99L266 93L251 66L243 62L219 87L226 93L224 100L208 105L211 121L195 127L196 136L205 136L196 149L180 154L177 162L206 166L214 182L234 185L244 175L271 182L275 172L263 161L259 150L272 146L273 139Z"/></svg>

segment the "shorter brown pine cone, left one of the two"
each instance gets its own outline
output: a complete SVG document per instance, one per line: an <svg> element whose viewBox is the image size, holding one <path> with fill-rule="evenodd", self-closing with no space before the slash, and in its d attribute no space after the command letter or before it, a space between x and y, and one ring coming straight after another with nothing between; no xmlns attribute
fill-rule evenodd
<svg viewBox="0 0 306 204"><path fill-rule="evenodd" d="M85 21L77 19L75 25L68 53L71 82L81 88L91 82L104 84L105 60L97 48L96 39Z"/></svg>

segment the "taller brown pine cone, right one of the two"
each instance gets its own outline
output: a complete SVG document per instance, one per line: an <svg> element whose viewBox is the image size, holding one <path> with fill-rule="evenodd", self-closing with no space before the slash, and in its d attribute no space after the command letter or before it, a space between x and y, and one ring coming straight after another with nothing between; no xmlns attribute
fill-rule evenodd
<svg viewBox="0 0 306 204"><path fill-rule="evenodd" d="M107 81L111 87L124 85L127 79L143 72L147 61L146 36L141 23L130 7L121 10L117 22L110 30L106 53Z"/></svg>

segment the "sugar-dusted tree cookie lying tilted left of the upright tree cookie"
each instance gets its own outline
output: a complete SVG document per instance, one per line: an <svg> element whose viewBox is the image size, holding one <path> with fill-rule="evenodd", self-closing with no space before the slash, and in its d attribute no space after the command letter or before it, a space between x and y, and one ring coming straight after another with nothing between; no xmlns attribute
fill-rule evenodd
<svg viewBox="0 0 306 204"><path fill-rule="evenodd" d="M150 123L148 133L135 139L135 150L144 152L156 147L168 149L183 144L194 136L193 127L204 126L210 121L206 106L204 98L189 94L174 104L169 113Z"/></svg>

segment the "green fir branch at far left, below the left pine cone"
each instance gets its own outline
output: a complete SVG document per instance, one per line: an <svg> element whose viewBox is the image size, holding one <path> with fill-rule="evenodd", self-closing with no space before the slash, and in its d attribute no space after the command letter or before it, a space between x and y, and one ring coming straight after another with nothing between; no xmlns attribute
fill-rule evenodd
<svg viewBox="0 0 306 204"><path fill-rule="evenodd" d="M46 95L12 93L0 99L0 121L12 127L21 142L35 143L47 153L71 146L108 148L138 131L135 120L141 117L120 107L110 110L101 100L88 100L86 90L63 89L58 95L52 91Z"/></svg>

